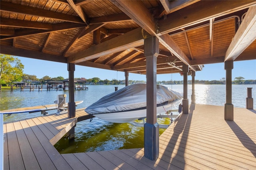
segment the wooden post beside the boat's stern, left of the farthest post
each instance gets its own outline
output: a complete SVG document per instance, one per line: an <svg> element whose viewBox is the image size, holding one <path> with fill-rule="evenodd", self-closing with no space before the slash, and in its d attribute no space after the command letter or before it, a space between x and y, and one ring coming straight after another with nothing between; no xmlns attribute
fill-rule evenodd
<svg viewBox="0 0 256 170"><path fill-rule="evenodd" d="M182 100L182 113L188 114L188 65L183 63L183 100Z"/></svg>

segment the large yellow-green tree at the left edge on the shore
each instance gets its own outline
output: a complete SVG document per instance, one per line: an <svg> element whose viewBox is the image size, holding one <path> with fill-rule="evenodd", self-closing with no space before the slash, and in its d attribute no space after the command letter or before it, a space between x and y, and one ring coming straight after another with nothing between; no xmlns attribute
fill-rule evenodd
<svg viewBox="0 0 256 170"><path fill-rule="evenodd" d="M0 54L0 83L22 81L24 65L12 55Z"/></svg>

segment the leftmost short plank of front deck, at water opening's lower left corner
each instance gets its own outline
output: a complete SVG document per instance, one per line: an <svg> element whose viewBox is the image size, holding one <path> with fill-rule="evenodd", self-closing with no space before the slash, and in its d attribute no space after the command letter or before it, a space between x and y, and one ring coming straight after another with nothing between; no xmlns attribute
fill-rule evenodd
<svg viewBox="0 0 256 170"><path fill-rule="evenodd" d="M68 162L73 170L88 170L74 154L62 154L62 157Z"/></svg>

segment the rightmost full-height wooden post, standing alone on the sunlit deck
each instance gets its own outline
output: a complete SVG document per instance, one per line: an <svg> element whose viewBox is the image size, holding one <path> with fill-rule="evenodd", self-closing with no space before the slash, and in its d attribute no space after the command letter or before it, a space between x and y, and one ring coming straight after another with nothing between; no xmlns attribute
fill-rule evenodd
<svg viewBox="0 0 256 170"><path fill-rule="evenodd" d="M232 69L233 61L225 61L226 70L226 103L224 105L224 119L234 120L234 105L232 104Z"/></svg>

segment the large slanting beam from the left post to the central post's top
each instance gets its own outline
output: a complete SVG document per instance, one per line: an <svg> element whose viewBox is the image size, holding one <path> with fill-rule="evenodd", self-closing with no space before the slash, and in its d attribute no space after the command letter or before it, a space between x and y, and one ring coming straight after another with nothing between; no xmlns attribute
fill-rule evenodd
<svg viewBox="0 0 256 170"><path fill-rule="evenodd" d="M145 33L144 36L150 35ZM128 48L136 47L142 45L143 43L144 37L141 34L141 28L137 28L136 30L132 30L126 34L112 38L111 40L100 43L98 45L93 45L84 51L80 51L74 55L71 55L68 57L68 62L76 64L82 61L88 61L103 55L108 55L126 50Z"/></svg>

